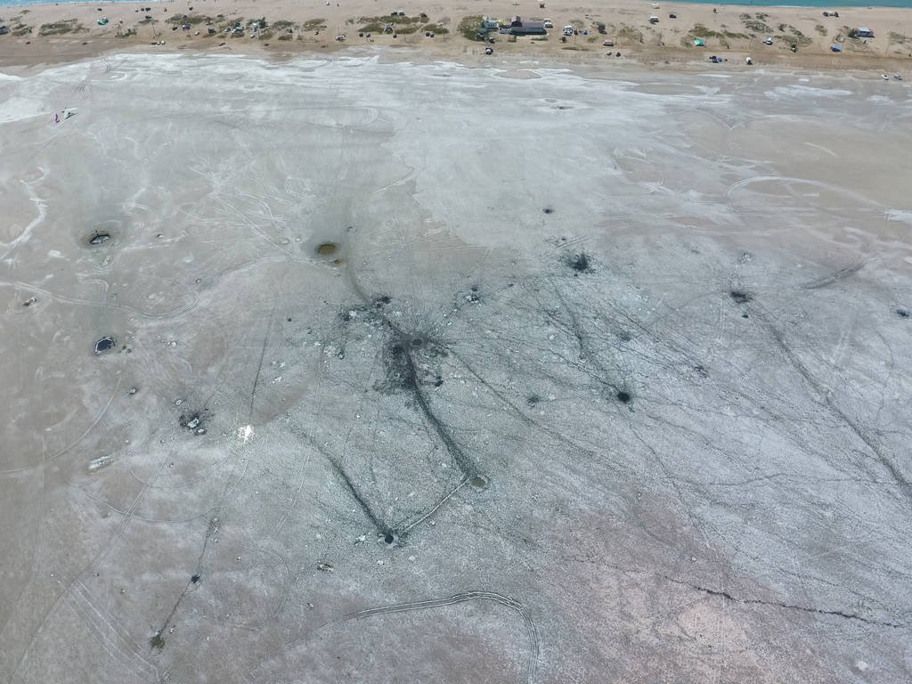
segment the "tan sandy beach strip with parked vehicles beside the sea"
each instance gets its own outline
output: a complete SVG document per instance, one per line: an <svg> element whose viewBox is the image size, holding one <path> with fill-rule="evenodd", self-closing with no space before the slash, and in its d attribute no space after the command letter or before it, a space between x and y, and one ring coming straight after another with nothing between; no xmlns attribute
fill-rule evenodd
<svg viewBox="0 0 912 684"><path fill-rule="evenodd" d="M602 44L611 38L612 52L621 52L621 59L663 67L689 67L710 55L728 59L731 66L743 65L745 57L751 57L757 66L878 73L903 72L912 63L912 10L908 9L834 6L828 14L836 11L839 16L824 17L826 10L818 8L714 7L637 0L598 5L549 0L544 8L539 5L531 0L401 6L381 5L377 0L294 4L282 0L179 0L4 7L0 8L0 26L7 26L10 33L0 36L0 65L56 63L125 50L286 58L364 45L419 47L430 59L484 61L484 44L468 40L460 31L465 17L477 16L506 21L512 16L527 21L551 19L554 24L546 39L522 36L511 42L508 36L495 36L495 57L602 63L608 58ZM395 25L399 29L395 38L382 33L387 21L380 20L394 11L405 13ZM650 16L656 16L658 23L650 23ZM101 18L108 19L105 26L98 26ZM261 18L266 27L250 37L254 20ZM225 33L238 22L244 31ZM184 31L184 25L190 30ZM600 25L604 25L604 33L599 33ZM566 43L561 42L563 26L574 26L577 31ZM859 26L872 29L876 37L866 41L848 37ZM209 27L214 33L209 33ZM365 28L368 30L362 30ZM426 36L429 29L434 32L432 38ZM335 40L338 35L346 36L344 44ZM764 44L768 37L772 45ZM695 39L704 40L705 47L694 47ZM150 45L161 40L164 45ZM797 52L792 52L792 45ZM832 52L832 45L841 48L838 55Z"/></svg>

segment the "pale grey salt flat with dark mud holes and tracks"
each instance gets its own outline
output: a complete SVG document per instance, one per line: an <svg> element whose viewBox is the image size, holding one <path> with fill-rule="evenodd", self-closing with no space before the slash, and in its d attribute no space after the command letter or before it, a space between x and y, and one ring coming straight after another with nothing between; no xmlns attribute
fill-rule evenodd
<svg viewBox="0 0 912 684"><path fill-rule="evenodd" d="M514 67L0 78L5 681L912 676L907 86Z"/></svg>

